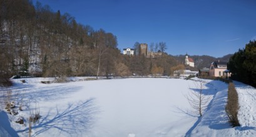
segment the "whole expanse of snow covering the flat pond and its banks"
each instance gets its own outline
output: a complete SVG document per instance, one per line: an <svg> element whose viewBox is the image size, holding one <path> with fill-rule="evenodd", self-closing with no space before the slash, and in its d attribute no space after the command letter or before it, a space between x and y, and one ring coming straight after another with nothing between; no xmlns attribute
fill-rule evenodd
<svg viewBox="0 0 256 137"><path fill-rule="evenodd" d="M26 121L36 106L41 118L33 124L32 136L256 135L256 90L238 82L241 127L232 128L225 113L228 85L219 81L204 80L203 95L211 100L200 118L186 98L199 91L198 79L126 78L51 84L41 83L51 78L23 79L26 83L14 80L9 89L19 104L23 103L24 111L17 116L0 111L1 136L28 136ZM21 116L25 125L14 122Z"/></svg>

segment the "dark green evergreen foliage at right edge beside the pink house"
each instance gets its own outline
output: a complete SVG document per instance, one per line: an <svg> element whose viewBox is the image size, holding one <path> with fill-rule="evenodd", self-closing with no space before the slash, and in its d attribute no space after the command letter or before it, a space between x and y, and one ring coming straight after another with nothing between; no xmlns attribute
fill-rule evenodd
<svg viewBox="0 0 256 137"><path fill-rule="evenodd" d="M256 40L250 40L245 49L235 52L230 57L227 67L232 73L233 80L256 87Z"/></svg>

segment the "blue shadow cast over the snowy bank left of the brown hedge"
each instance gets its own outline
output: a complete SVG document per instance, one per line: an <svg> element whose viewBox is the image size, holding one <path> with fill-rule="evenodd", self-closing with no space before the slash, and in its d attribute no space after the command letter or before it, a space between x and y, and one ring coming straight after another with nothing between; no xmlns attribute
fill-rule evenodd
<svg viewBox="0 0 256 137"><path fill-rule="evenodd" d="M221 96L218 96L218 98L216 98L218 92L225 92L225 90L228 91L228 85L226 84L226 86L222 84L226 83L220 82L218 80L213 80L205 84L205 89L202 90L203 95L213 95L213 98L208 103L208 106L205 109L203 116L198 117L198 120L190 128L190 130L187 131L185 136L190 136L192 131L197 127L199 123L200 125L208 126L209 128L214 130L222 130L231 127L228 123L227 113L225 112L225 105L227 104L227 92L222 93ZM200 89L198 88L190 89L194 92L200 92ZM208 115L210 116L205 115L207 111L210 111L208 113ZM205 120L202 120L203 117Z"/></svg>

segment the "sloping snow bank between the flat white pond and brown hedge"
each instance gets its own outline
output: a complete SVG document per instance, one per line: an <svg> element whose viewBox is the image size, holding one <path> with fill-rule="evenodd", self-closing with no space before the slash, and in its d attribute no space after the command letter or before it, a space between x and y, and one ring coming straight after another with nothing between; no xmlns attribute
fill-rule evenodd
<svg viewBox="0 0 256 137"><path fill-rule="evenodd" d="M209 84L215 88L217 93L208 105L208 109L202 118L188 131L187 136L230 136L233 129L228 123L228 116L225 112L227 104L227 84L220 81L212 81Z"/></svg>

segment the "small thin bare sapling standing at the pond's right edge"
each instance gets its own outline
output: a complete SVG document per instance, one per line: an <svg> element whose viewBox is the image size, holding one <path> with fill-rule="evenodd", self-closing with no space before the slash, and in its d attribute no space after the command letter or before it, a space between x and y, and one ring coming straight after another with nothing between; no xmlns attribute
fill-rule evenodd
<svg viewBox="0 0 256 137"><path fill-rule="evenodd" d="M198 113L202 116L203 111L207 108L208 103L210 102L210 96L207 96L203 93L205 89L205 82L203 80L199 80L195 82L195 87L191 93L189 93L186 98L190 106L195 110L195 113Z"/></svg>

